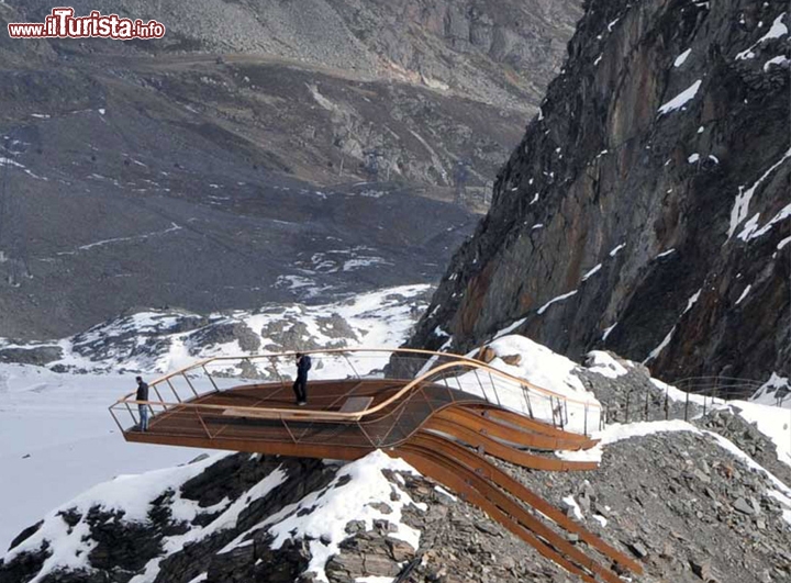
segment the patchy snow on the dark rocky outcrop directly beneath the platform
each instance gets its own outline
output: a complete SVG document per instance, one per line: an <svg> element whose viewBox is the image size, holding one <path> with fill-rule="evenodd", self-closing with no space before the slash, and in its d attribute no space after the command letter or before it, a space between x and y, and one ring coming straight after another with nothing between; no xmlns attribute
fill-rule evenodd
<svg viewBox="0 0 791 583"><path fill-rule="evenodd" d="M148 525L157 507L167 508L170 523L190 524L192 528L160 536L160 552L146 561L142 572L132 579L135 583L153 581L163 570L163 563L185 546L199 545L216 535L225 542L227 537L223 538L224 534L232 534L233 539L218 554L232 553L235 549L248 546L253 535L261 529L274 537L271 549L275 551L280 550L289 539L309 539L311 560L308 570L316 573L321 581L326 581L326 563L333 554L339 552L338 545L347 538L345 528L352 520L361 523L359 527L365 530L372 530L375 520L388 520L392 525L389 538L403 541L412 549L420 545L420 531L401 522L401 512L410 504L416 508L424 506L415 505L394 480L388 480L382 473L416 473L403 461L378 451L353 463L326 468L325 473L331 479L324 480L325 483L315 491L307 495L303 493L301 500L299 495L283 500L288 503L277 512L261 516L263 519L245 528L245 511L271 498L278 489L291 485L294 479L304 480L304 474L298 470L305 468L272 461L268 468L270 471L243 495L235 500L226 496L205 506L200 500L200 489L191 489L189 483L207 470L221 466L227 456L214 455L188 466L141 475L121 475L99 484L49 512L41 528L14 547L4 561L12 562L24 553L36 553L46 541L48 557L31 580L32 583L44 581L60 570L90 571L91 553L101 545L91 536L97 514L116 524ZM255 462L257 459L258 456L252 456L247 461ZM315 464L308 467L309 471L315 469ZM199 500L190 497L190 491L197 492ZM163 501L161 496L168 492L171 494ZM279 495L288 494L280 492ZM383 501L389 501L387 511L381 507ZM74 516L76 524L64 520L64 516Z"/></svg>

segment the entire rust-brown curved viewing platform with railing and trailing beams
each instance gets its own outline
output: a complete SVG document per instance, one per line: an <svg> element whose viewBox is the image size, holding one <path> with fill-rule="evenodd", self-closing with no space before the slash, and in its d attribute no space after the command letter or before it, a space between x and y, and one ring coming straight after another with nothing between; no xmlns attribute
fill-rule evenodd
<svg viewBox="0 0 791 583"><path fill-rule="evenodd" d="M354 460L376 449L403 458L587 582L620 583L642 567L568 518L488 456L544 471L594 471L560 450L593 447L593 400L547 391L484 362L423 350L324 350L308 405L291 389L293 354L221 357L151 383L110 407L127 441ZM363 372L363 373L360 373ZM250 377L264 377L250 380ZM140 427L138 407L151 413ZM568 542L573 532L584 547ZM606 565L606 567L605 567Z"/></svg>

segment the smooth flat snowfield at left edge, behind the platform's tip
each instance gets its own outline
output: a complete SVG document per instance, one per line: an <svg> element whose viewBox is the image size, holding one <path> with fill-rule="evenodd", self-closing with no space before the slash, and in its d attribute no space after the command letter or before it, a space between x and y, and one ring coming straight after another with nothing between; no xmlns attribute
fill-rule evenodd
<svg viewBox="0 0 791 583"><path fill-rule="evenodd" d="M120 374L0 365L0 548L48 508L119 473L186 463L200 451L126 444L107 407Z"/></svg>

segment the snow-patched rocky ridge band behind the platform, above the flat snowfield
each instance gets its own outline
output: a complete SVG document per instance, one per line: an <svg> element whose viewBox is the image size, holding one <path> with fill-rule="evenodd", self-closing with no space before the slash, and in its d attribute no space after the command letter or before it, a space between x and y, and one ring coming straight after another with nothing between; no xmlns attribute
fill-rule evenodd
<svg viewBox="0 0 791 583"><path fill-rule="evenodd" d="M208 316L136 312L51 343L0 338L0 362L45 365L56 371L165 372L213 356L398 346L425 309L431 290L403 285L332 304L267 304Z"/></svg>

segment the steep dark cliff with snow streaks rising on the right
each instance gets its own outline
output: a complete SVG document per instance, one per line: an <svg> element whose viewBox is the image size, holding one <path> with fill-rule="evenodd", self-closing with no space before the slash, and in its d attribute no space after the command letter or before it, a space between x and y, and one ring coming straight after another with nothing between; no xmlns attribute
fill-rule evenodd
<svg viewBox="0 0 791 583"><path fill-rule="evenodd" d="M464 350L513 325L668 379L788 377L783 3L586 10L411 344Z"/></svg>

